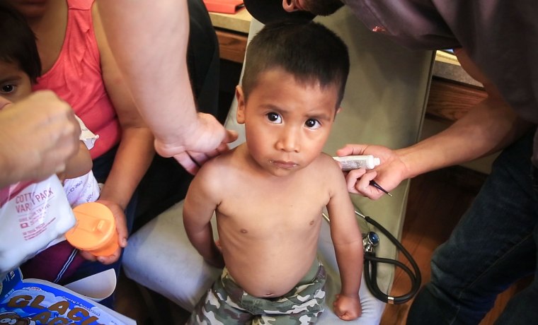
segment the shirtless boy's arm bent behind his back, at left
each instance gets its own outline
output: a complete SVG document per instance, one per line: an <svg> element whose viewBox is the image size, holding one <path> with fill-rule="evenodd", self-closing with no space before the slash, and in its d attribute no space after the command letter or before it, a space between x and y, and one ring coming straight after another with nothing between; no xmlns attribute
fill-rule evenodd
<svg viewBox="0 0 538 325"><path fill-rule="evenodd" d="M193 179L183 204L183 225L187 237L207 263L217 268L224 266L224 259L213 240L211 218L217 208L207 180L211 179L200 170Z"/></svg>

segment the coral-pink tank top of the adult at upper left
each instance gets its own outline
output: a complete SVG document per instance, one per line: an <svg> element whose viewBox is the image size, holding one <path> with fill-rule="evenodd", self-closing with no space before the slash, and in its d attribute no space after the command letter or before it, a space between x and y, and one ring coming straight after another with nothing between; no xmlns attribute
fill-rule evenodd
<svg viewBox="0 0 538 325"><path fill-rule="evenodd" d="M91 17L93 0L68 0L64 44L54 66L33 90L50 89L73 107L76 115L99 139L90 150L97 158L113 148L121 136L120 123L105 90Z"/></svg>

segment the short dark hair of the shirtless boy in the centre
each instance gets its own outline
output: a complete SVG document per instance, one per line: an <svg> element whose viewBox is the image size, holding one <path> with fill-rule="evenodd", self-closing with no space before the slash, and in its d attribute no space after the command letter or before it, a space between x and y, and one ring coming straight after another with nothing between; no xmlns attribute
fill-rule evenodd
<svg viewBox="0 0 538 325"><path fill-rule="evenodd" d="M348 47L324 25L292 21L265 25L249 43L245 61L241 81L245 99L261 73L282 68L300 83L337 85L340 106L349 73Z"/></svg>

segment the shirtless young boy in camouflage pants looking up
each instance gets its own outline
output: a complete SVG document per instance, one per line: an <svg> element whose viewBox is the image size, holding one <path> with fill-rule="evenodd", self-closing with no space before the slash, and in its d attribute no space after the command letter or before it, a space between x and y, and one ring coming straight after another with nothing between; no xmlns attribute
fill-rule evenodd
<svg viewBox="0 0 538 325"><path fill-rule="evenodd" d="M324 311L316 250L325 207L342 283L334 311L344 320L361 314L362 237L340 167L321 152L348 51L323 25L290 24L265 25L248 46L236 89L246 143L203 165L188 190L189 240L207 263L226 266L189 324L314 323Z"/></svg>

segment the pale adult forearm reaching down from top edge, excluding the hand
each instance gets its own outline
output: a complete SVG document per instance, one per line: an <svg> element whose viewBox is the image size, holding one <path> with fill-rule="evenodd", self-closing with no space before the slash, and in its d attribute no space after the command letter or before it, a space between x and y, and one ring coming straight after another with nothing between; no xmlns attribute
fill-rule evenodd
<svg viewBox="0 0 538 325"><path fill-rule="evenodd" d="M156 138L176 142L198 123L186 64L187 2L100 0L98 4L110 48L140 114Z"/></svg>

